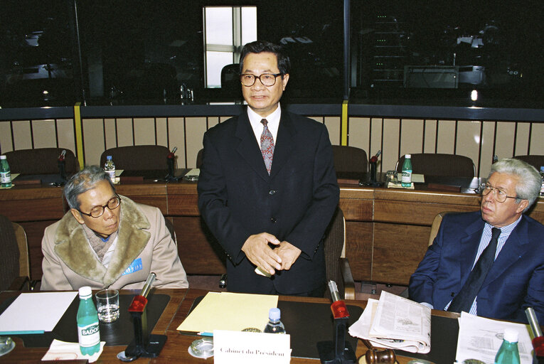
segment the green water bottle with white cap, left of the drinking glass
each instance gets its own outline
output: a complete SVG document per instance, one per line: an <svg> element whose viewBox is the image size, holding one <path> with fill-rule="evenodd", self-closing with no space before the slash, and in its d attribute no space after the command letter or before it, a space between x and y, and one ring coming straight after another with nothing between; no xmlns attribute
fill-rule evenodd
<svg viewBox="0 0 544 364"><path fill-rule="evenodd" d="M78 338L83 355L92 355L100 351L100 326L95 303L92 301L90 287L81 287L80 306L78 309Z"/></svg>

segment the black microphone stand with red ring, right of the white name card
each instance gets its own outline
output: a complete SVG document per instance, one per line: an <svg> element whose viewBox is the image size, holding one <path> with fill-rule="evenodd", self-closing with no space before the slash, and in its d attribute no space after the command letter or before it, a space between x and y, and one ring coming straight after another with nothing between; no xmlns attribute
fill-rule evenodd
<svg viewBox="0 0 544 364"><path fill-rule="evenodd" d="M320 341L317 343L319 360L323 364L354 364L357 362L355 351L351 343L346 341L346 328L348 326L349 312L344 301L338 294L336 282L329 281L329 289L333 303L331 311L334 317L334 341Z"/></svg>

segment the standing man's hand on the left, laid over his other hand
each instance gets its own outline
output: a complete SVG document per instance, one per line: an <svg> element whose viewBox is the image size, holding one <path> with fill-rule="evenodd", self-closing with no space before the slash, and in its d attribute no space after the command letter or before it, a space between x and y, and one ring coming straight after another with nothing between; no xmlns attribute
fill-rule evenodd
<svg viewBox="0 0 544 364"><path fill-rule="evenodd" d="M279 240L267 232L251 235L242 245L242 252L245 253L247 259L250 259L250 262L273 275L276 272L275 269L282 269L282 258L268 246L269 242L279 245Z"/></svg>

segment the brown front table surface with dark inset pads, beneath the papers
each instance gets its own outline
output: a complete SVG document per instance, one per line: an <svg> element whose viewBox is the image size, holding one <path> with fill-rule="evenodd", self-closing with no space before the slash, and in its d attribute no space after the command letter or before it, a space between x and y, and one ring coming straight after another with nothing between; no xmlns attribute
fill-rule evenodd
<svg viewBox="0 0 544 364"><path fill-rule="evenodd" d="M20 292L17 291L2 291L0 292L0 308L5 309L6 307L6 301L13 300L15 296L17 296ZM130 299L134 294L138 294L138 291L132 291L132 290L121 290L120 295L129 296ZM166 335L166 344L164 348L162 349L160 355L158 358L139 358L134 363L213 363L213 360L204 360L201 358L194 358L188 353L188 347L191 345L193 341L195 341L198 338L201 338L201 336L196 335L186 335L179 333L176 328L183 322L183 320L188 316L188 313L191 310L191 307L193 306L193 303L195 300L198 300L200 297L206 295L208 291L204 291L201 289L153 289L151 290L151 293L149 294L148 298L151 301L153 295L158 296L169 296L169 301L166 304L164 311L162 311L162 314L159 316L159 319L156 321L156 324L154 328L152 329L151 333L153 334L159 334L159 335ZM78 298L76 297L75 300ZM286 303L300 303L299 307L302 309L305 309L306 307L309 307L311 305L321 305L328 307L331 304L331 301L328 299L320 299L320 298L311 298L311 297L297 297L297 296L279 296L278 306L281 307L282 304ZM346 305L348 305L348 308L350 307L358 307L360 308L358 311L362 311L362 309L366 306L366 301L351 301L347 300ZM4 307L3 307L4 306ZM68 313L68 311L67 311ZM66 315L66 314L65 314ZM73 325L75 326L75 312L72 312L73 318L70 319L73 321ZM128 315L127 311L121 311L121 315ZM451 326L452 328L457 327L457 320L456 318L459 316L458 314L453 314L449 312L444 311L432 311L432 320L440 320L437 323L437 326L444 326L444 322L447 323L447 326ZM64 319L64 318L63 318ZM315 318L318 320L318 318ZM353 317L353 320L358 319L357 317ZM119 319L120 320L120 319ZM324 321L331 321L332 322L332 314L329 311L327 315L324 315L323 317ZM70 322L70 321L68 321ZM434 322L433 322L434 325ZM331 326L332 327L332 326ZM435 326L433 326L434 329ZM55 328L57 330L57 328ZM54 331L55 331L54 330ZM75 331L75 329L74 329ZM291 331L291 332L289 332ZM311 337L298 337L294 338L293 336L296 335L296 333L293 333L293 328L287 327L287 332L292 334L292 348L294 341L306 341L306 344L313 346L314 343L312 342ZM434 331L437 331L434 333ZM457 331L456 330L449 330L449 331L443 331L440 332L440 330L434 330L433 331L433 341L432 346L436 346L434 349L434 363L440 364L440 363L452 363L452 357L451 355L454 355L455 348L457 346ZM101 329L101 332L102 329ZM332 329L331 329L331 335L330 340L332 340ZM103 337L102 337L103 338ZM48 344L46 346L41 347L26 347L23 343L23 339L21 336L13 336L13 339L16 343L16 347L14 350L11 351L11 353L6 354L4 356L0 357L0 363L38 363L43 355L46 354L48 350ZM100 355L100 358L97 360L96 363L121 363L119 359L117 359L117 353L120 351L123 351L126 348L126 345L119 346L119 345L106 345L104 347L104 350L102 354ZM444 352L444 348L447 351ZM363 345L361 340L358 340L357 346L356 346L356 357L360 358L362 355L366 353L366 346ZM433 348L431 348L431 353L433 353ZM412 358L409 358L407 356L399 356L400 353L397 353L398 360L400 364L405 364ZM421 355L420 358L430 358L428 355ZM438 358L438 359L437 359ZM71 360L69 362L65 363L85 363L85 360ZM319 360L316 358L297 358L294 357L291 360L291 363L298 364L298 363L319 363Z"/></svg>

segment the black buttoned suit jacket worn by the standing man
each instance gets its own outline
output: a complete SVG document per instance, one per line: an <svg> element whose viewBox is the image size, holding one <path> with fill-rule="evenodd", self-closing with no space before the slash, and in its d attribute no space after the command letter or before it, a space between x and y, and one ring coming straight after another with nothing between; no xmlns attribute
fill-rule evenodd
<svg viewBox="0 0 544 364"><path fill-rule="evenodd" d="M273 284L296 294L325 284L321 240L339 188L324 124L282 110L270 176L247 112L209 129L203 144L198 207L228 255L228 289L260 293ZM241 251L260 232L302 250L291 269L272 279L255 274Z"/></svg>

